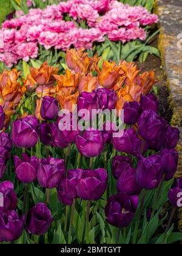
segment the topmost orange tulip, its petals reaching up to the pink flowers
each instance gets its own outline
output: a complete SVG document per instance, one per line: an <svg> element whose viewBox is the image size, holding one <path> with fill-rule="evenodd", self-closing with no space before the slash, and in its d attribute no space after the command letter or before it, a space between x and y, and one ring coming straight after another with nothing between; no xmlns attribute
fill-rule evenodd
<svg viewBox="0 0 182 256"><path fill-rule="evenodd" d="M69 49L66 52L66 62L70 69L73 69L76 73L87 73L93 69L93 65L98 63L99 58L88 57L88 53L83 52L83 49L76 51L75 49Z"/></svg>

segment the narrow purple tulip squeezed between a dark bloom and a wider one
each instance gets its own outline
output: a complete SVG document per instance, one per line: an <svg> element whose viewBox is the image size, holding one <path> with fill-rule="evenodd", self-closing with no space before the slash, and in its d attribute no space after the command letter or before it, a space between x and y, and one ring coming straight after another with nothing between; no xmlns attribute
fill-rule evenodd
<svg viewBox="0 0 182 256"><path fill-rule="evenodd" d="M69 144L64 141L64 136L62 135L61 130L59 130L57 123L51 124L50 133L52 135L53 147L67 148L69 146Z"/></svg>

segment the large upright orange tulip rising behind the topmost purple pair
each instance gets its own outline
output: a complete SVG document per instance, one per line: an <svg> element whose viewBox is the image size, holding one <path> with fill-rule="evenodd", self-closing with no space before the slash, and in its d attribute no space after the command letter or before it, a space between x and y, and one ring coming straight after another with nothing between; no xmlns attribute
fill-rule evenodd
<svg viewBox="0 0 182 256"><path fill-rule="evenodd" d="M104 60L101 71L99 71L96 65L95 68L98 73L99 84L107 88L112 88L122 74L122 72L120 72L121 66L116 66L115 62L107 62Z"/></svg>

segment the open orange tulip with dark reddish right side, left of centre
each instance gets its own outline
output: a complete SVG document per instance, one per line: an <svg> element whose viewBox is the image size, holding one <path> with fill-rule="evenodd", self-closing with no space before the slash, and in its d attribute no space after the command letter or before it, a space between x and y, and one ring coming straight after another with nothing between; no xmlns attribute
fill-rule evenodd
<svg viewBox="0 0 182 256"><path fill-rule="evenodd" d="M30 73L38 85L52 86L55 82L53 75L58 74L58 68L48 66L47 62L44 62L40 68L31 67Z"/></svg>

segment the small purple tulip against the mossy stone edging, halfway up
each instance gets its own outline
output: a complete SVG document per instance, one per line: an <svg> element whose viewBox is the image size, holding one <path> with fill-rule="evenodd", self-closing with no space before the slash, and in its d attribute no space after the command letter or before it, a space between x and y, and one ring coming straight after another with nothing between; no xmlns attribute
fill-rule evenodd
<svg viewBox="0 0 182 256"><path fill-rule="evenodd" d="M176 127L167 126L164 140L165 148L175 148L180 140L180 130Z"/></svg>

